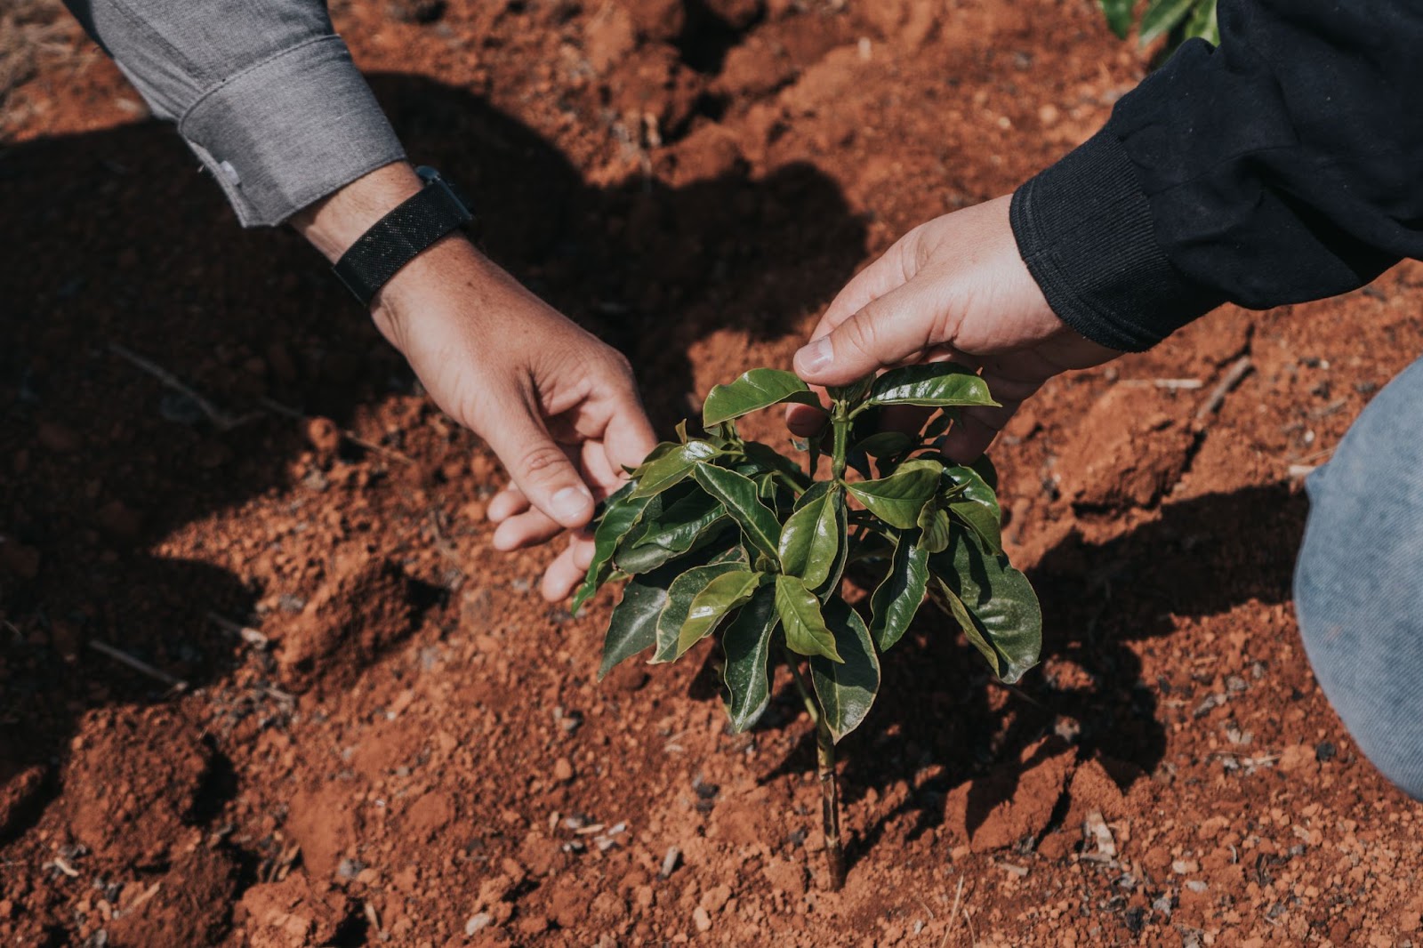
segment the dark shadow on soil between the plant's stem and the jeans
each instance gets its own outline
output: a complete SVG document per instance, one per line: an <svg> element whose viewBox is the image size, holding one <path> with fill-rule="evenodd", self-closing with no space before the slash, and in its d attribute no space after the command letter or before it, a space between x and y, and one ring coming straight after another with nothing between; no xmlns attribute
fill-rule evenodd
<svg viewBox="0 0 1423 948"><path fill-rule="evenodd" d="M914 814L908 838L943 820L945 796L972 781L968 828L1012 799L1036 757L1020 757L1074 722L1080 759L1101 754L1126 766L1114 776L1151 773L1165 733L1157 709L1163 682L1144 682L1137 648L1154 648L1180 619L1227 612L1249 601L1289 599L1295 551L1303 535L1306 501L1285 484L1210 494L1168 504L1161 518L1109 542L1083 542L1076 534L1050 549L1029 576L1042 599L1043 659L1080 669L1079 680L1056 680L1042 668L1016 690L998 685L952 621L932 608L884 660L884 680L872 725L844 749L842 794L861 799L939 764L943 773L911 790L848 843L850 858L875 848L887 827ZM1265 659L1268 663L1268 658ZM1081 680L1086 679L1086 680ZM794 719L800 699L777 695L777 717ZM1054 750L1053 743L1036 753ZM807 736L770 776L815 767L814 736ZM1059 814L1060 817L1060 814ZM1032 843L1029 840L1027 843Z"/></svg>

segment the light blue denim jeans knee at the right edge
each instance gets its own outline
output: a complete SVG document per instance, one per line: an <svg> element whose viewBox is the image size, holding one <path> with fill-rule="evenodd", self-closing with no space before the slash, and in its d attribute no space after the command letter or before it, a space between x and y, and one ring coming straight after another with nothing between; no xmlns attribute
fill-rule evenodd
<svg viewBox="0 0 1423 948"><path fill-rule="evenodd" d="M1295 612L1315 678L1369 760L1423 799L1423 360L1308 490Z"/></svg>

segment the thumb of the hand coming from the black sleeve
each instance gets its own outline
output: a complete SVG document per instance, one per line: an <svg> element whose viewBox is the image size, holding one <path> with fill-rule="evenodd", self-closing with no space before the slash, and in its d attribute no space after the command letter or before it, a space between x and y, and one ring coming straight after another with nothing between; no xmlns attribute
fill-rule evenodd
<svg viewBox="0 0 1423 948"><path fill-rule="evenodd" d="M935 342L936 303L929 280L909 280L801 347L795 373L813 386L848 386L919 356Z"/></svg>

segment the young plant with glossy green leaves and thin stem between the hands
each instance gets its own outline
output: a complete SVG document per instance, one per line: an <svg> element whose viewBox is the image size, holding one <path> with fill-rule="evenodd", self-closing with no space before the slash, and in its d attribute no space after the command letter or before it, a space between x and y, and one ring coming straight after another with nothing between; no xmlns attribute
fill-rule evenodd
<svg viewBox="0 0 1423 948"><path fill-rule="evenodd" d="M895 369L830 390L830 424L800 465L740 437L736 418L784 401L820 406L788 372L753 369L707 396L706 437L659 444L608 498L576 612L626 579L599 678L646 649L673 662L707 636L724 652L731 727L751 727L784 660L815 725L831 888L845 878L835 744L869 713L879 652L925 596L953 618L1005 682L1037 662L1042 613L1003 555L996 477L985 460L951 464L935 441L963 406L995 406L985 381L951 363ZM929 409L914 434L881 430L884 409ZM817 480L820 460L830 477ZM847 478L847 471L859 478ZM854 569L872 586L868 622L840 595ZM803 668L804 665L804 668Z"/></svg>

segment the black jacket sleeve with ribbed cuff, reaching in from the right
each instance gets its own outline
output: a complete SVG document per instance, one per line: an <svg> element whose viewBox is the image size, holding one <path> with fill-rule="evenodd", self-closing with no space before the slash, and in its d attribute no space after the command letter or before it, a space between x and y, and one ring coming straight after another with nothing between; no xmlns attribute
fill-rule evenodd
<svg viewBox="0 0 1423 948"><path fill-rule="evenodd" d="M1423 258L1423 0L1218 11L1220 47L1185 43L1013 195L1047 302L1114 349Z"/></svg>

